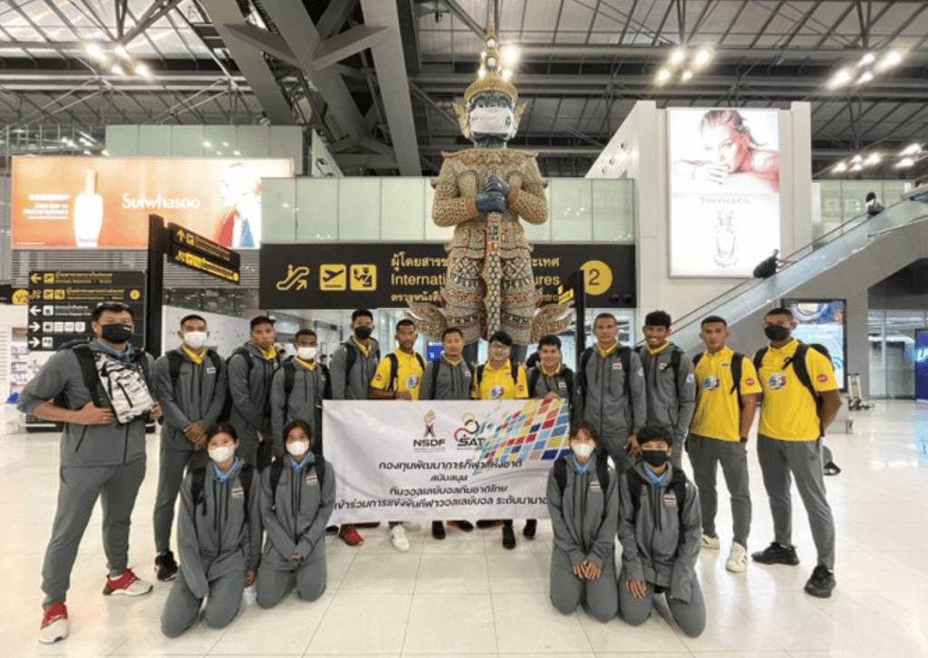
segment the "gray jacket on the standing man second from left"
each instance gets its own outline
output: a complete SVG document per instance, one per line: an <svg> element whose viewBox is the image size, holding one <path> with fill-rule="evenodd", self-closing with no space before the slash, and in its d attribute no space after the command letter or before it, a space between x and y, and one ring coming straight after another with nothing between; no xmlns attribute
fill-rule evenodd
<svg viewBox="0 0 928 658"><path fill-rule="evenodd" d="M164 422L161 425L161 446L167 450L195 449L184 434L184 428L199 422L207 432L216 424L226 402L226 362L203 354L200 364L183 348L175 352L183 356L177 385L171 385L171 363L167 355L155 361L155 399L161 404Z"/></svg>

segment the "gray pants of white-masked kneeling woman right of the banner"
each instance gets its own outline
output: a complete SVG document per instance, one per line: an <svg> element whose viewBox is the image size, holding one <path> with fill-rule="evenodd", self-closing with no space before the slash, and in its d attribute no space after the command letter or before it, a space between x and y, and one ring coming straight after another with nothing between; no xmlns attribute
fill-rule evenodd
<svg viewBox="0 0 928 658"><path fill-rule="evenodd" d="M574 574L567 553L559 548L551 551L551 602L563 614L573 614L581 603L587 613L600 622L608 622L618 612L615 591L615 563L605 561L602 574L596 580L581 580Z"/></svg>

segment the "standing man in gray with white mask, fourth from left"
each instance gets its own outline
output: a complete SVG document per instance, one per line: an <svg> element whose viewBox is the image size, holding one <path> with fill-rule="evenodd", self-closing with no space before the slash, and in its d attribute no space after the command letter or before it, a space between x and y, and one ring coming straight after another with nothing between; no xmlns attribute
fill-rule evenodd
<svg viewBox="0 0 928 658"><path fill-rule="evenodd" d="M296 419L313 430L313 452L322 454L322 401L329 397L329 368L316 359L316 332L300 329L293 339L297 355L274 373L271 381L271 433L274 455L284 454L284 428ZM287 383L290 381L290 394Z"/></svg>

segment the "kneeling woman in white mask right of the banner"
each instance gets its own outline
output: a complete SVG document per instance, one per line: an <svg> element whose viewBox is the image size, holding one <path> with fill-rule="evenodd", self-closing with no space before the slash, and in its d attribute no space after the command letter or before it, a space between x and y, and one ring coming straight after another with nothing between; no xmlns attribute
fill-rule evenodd
<svg viewBox="0 0 928 658"><path fill-rule="evenodd" d="M555 461L548 475L548 512L554 530L551 602L573 614L586 612L608 622L618 609L615 589L615 530L619 519L618 478L586 422L571 434L571 455Z"/></svg>

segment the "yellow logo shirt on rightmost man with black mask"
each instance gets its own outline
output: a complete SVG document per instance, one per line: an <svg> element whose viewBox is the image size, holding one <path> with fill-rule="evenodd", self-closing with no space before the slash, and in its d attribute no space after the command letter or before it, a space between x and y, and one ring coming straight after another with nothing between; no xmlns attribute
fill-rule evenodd
<svg viewBox="0 0 928 658"><path fill-rule="evenodd" d="M791 363L797 347L799 341L793 339L780 349L769 347L764 355L757 373L764 389L757 431L780 441L815 441L819 433L815 400ZM838 389L831 361L812 347L806 351L806 369L818 393Z"/></svg>

